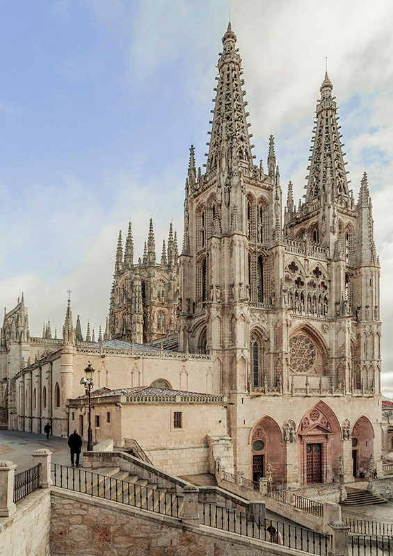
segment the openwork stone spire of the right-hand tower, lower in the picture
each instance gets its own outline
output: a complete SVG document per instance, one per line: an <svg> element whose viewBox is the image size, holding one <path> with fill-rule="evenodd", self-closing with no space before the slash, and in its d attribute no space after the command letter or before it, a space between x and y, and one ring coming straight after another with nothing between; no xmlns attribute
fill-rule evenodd
<svg viewBox="0 0 393 556"><path fill-rule="evenodd" d="M307 170L306 202L321 199L329 202L335 199L340 204L349 201L348 182L346 180L344 154L337 126L337 104L332 97L332 82L328 72L321 85L321 99L316 105L316 126L312 139L311 163Z"/></svg>

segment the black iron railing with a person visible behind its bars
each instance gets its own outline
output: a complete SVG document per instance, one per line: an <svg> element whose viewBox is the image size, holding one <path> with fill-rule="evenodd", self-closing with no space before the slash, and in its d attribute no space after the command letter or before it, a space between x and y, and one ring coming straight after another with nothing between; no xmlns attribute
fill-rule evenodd
<svg viewBox="0 0 393 556"><path fill-rule="evenodd" d="M323 534L296 525L237 512L234 509L218 507L207 502L201 503L202 515L200 519L204 525L234 532L244 537L276 542L288 548L296 548L310 554L328 555L328 537ZM268 528L270 531L268 531Z"/></svg>

